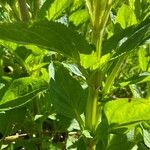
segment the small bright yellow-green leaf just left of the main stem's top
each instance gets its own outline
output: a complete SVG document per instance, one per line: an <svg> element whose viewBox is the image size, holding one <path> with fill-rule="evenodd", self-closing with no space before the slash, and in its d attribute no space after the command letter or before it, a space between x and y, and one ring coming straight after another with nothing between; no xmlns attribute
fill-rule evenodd
<svg viewBox="0 0 150 150"><path fill-rule="evenodd" d="M88 19L89 15L86 9L75 11L69 17L69 21L73 22L75 26L85 23Z"/></svg>

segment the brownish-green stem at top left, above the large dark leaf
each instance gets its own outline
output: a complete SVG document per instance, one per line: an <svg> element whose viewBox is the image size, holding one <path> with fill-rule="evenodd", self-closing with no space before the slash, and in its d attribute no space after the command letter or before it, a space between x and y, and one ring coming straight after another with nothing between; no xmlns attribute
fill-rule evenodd
<svg viewBox="0 0 150 150"><path fill-rule="evenodd" d="M29 21L30 16L27 9L26 0L18 0L22 21Z"/></svg>

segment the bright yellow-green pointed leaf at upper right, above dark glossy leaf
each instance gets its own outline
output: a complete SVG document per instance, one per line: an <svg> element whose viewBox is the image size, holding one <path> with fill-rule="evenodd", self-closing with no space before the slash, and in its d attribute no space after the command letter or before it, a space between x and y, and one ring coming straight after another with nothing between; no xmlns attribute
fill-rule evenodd
<svg viewBox="0 0 150 150"><path fill-rule="evenodd" d="M119 23L123 29L137 23L134 11L125 4L118 10L115 21L116 23Z"/></svg>

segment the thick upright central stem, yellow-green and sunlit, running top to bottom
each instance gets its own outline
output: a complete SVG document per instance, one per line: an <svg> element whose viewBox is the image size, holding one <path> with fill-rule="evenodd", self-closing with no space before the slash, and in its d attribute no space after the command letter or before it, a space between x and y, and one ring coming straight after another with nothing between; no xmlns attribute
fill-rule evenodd
<svg viewBox="0 0 150 150"><path fill-rule="evenodd" d="M99 62L102 53L104 30L108 21L112 0L86 0L86 4L91 17L93 31L92 43L96 45L97 62ZM97 68L97 70L93 70L88 81L89 93L86 106L85 126L92 133L95 133L100 117L100 109L98 109L98 92L102 82L101 73L102 72L99 68ZM95 149L96 143L92 142L88 150Z"/></svg>

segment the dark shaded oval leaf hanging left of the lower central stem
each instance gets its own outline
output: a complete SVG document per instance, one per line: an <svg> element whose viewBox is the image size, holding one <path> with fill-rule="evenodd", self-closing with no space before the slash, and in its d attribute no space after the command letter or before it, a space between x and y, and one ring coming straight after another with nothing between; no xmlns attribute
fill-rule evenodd
<svg viewBox="0 0 150 150"><path fill-rule="evenodd" d="M56 111L70 118L77 118L85 108L85 91L69 72L59 67L55 80L50 82L51 98Z"/></svg>

